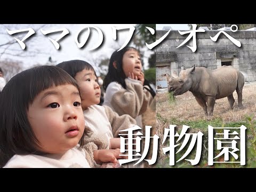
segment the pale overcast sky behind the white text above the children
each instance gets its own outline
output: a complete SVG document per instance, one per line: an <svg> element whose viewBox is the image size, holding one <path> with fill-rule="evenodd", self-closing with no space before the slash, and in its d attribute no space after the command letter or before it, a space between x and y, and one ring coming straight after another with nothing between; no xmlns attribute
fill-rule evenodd
<svg viewBox="0 0 256 192"><path fill-rule="evenodd" d="M29 53L33 52L35 50L39 52L47 52L47 54L37 54L35 57L14 57L13 55L10 54L3 54L2 57L0 58L0 61L3 59L14 59L14 60L21 60L23 63L25 63L25 68L29 68L30 66L33 66L37 63L41 63L42 65L45 64L48 60L49 57L51 56L51 59L57 63L60 63L62 61L67 61L67 60L74 60L74 59L80 59L80 60L85 60L88 61L90 59L96 60L97 58L100 58L101 55L105 55L105 57L110 58L111 54L121 48L121 46L125 43L126 39L129 37L129 29L123 29L123 30L117 30L117 39L113 39L113 29L112 27L130 27L130 26L135 26L135 24L51 24L51 25L46 25L42 29L43 30L53 30L53 29L60 29L60 28L66 28L69 31L69 34L60 39L58 41L60 45L60 49L57 50L53 43L50 41L49 37L52 39L57 39L61 32L55 33L55 34L49 34L49 35L43 35L41 30L36 31L34 35L31 35L28 39L24 41L26 44L26 49L23 50L24 53ZM18 30L18 29L25 29L28 27L33 28L36 30L36 28L39 25L35 24L6 24L6 25L0 25L1 30L0 31L0 44L5 43L5 41L10 41L16 37L15 35L9 35L6 32L6 27L8 27L9 30ZM98 27L103 34L103 42L99 46L98 49L91 50L98 42L99 36L97 30L90 28L90 36L87 39L87 42L82 48L78 48L75 38L77 37L77 34L79 31L81 31L83 28L87 26L94 26ZM24 37L28 32L22 34ZM87 29L82 30L79 33L79 43L81 43L81 39L86 38L86 34L88 33ZM135 32L134 32L135 33ZM39 37L39 38L35 38ZM20 39L21 40L21 39ZM29 43L28 43L29 42ZM146 45L145 45L146 47ZM0 47L0 53L3 52L3 49ZM147 47L146 47L147 48ZM9 50L21 50L20 45L17 43L14 43L9 47ZM151 50L143 49L145 50L145 69L148 68L148 62L147 59L149 55L152 53ZM93 64L93 63L91 63ZM97 69L96 69L97 70Z"/></svg>

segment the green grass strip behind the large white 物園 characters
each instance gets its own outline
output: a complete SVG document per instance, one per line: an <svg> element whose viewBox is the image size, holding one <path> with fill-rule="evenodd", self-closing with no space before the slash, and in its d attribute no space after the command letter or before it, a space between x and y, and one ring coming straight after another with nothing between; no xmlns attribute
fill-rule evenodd
<svg viewBox="0 0 256 192"><path fill-rule="evenodd" d="M158 115L158 118L161 118L160 115ZM156 167L162 168L162 167L169 167L169 168L178 168L178 167L224 167L224 168L234 168L234 167L256 167L256 121L253 121L253 116L247 116L245 117L245 121L241 122L223 122L221 118L215 118L211 121L207 120L200 120L200 121L178 121L177 119L169 119L169 123L175 125L188 125L190 126L190 129L197 128L201 129L204 133L203 135L203 147L202 146L202 153L201 153L201 161L195 166L192 166L190 162L185 161L183 159L180 162L175 162L174 166L170 166L170 158L167 157L162 161L162 163L157 163ZM213 127L240 127L241 125L245 125L247 127L246 135L251 135L252 137L249 139L246 139L246 165L242 166L239 163L214 163L213 166L207 165L207 141L208 141L208 134L207 134L207 127L208 125L211 125ZM181 141L182 142L182 141ZM165 143L166 145L167 143ZM188 145L188 144L187 144ZM164 146L167 147L168 145ZM185 147L186 148L186 147ZM195 148L194 148L195 149ZM216 149L216 148L214 148ZM176 149L175 149L176 150ZM186 151L186 149L185 149ZM183 151L183 153L185 153ZM195 150L191 151L191 153L186 157L187 159L194 159L195 158ZM220 151L215 151L215 153L219 154ZM217 155L215 154L215 155ZM238 153L239 154L239 153ZM175 161L177 161L183 154L175 154ZM231 157L233 158L233 157ZM235 159L230 159L229 161L235 161Z"/></svg>

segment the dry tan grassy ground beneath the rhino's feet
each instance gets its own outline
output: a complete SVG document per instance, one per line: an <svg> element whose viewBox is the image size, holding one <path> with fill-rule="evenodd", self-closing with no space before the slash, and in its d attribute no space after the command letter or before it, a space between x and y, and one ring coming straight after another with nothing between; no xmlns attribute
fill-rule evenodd
<svg viewBox="0 0 256 192"><path fill-rule="evenodd" d="M243 87L243 109L237 107L237 93L233 93L235 103L230 109L227 98L216 100L211 118L222 118L225 122L243 121L245 115L253 115L256 118L256 82L246 83ZM193 94L188 91L182 95L175 96L175 103L169 102L168 94L157 93L156 111L166 119L178 119L179 121L196 121L209 119L204 115L201 106L195 100Z"/></svg>

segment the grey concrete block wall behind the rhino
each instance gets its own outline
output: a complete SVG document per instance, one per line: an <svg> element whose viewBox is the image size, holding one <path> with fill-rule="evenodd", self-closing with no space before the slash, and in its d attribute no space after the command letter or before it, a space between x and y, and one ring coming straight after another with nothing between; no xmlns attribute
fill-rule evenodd
<svg viewBox="0 0 256 192"><path fill-rule="evenodd" d="M156 39L165 35L167 30L157 30ZM217 69L221 62L231 61L231 65L239 69L245 76L246 82L256 81L256 31L238 30L236 32L225 30L227 34L241 42L238 47L220 34L217 42L212 41L219 30L205 30L196 33L197 49L193 52L188 46L193 46L193 37L184 45L177 48L188 34L180 35L178 30L170 31L169 35L156 46L156 81L158 88L165 87L166 75L179 74L181 66L185 68L206 67ZM167 70L167 69L170 70Z"/></svg>

